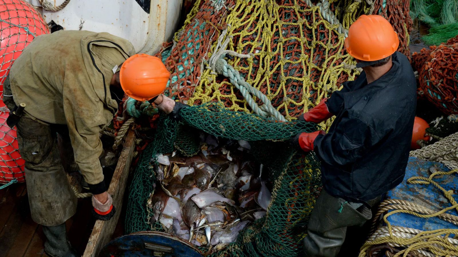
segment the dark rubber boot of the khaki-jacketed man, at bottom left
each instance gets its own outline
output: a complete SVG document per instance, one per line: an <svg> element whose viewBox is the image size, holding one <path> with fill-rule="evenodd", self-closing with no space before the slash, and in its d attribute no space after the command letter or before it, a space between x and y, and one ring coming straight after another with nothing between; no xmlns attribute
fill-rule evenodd
<svg viewBox="0 0 458 257"><path fill-rule="evenodd" d="M71 247L67 239L65 223L57 226L43 226L43 232L46 236L44 243L44 252L51 257L77 257L78 255Z"/></svg>

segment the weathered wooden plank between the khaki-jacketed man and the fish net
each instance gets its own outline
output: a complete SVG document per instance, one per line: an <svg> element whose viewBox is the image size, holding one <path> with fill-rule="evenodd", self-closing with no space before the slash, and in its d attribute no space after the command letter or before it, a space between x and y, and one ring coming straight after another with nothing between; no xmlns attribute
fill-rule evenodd
<svg viewBox="0 0 458 257"><path fill-rule="evenodd" d="M108 193L113 196L113 205L116 207L116 213L111 220L97 220L92 230L92 234L87 242L86 250L83 257L96 257L113 235L114 228L122 209L124 190L129 174L129 168L132 162L132 154L135 148L135 133L131 130L125 139L124 147L121 151L116 170L108 188Z"/></svg>

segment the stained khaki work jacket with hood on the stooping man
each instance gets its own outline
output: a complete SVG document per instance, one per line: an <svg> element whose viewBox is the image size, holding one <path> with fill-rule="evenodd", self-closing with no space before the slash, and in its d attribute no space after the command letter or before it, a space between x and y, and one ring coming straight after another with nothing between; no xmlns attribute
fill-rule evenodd
<svg viewBox="0 0 458 257"><path fill-rule="evenodd" d="M109 84L115 65L135 54L132 44L109 33L58 31L35 37L11 67L16 105L34 120L66 124L75 161L87 183L103 182L99 131L118 104Z"/></svg>

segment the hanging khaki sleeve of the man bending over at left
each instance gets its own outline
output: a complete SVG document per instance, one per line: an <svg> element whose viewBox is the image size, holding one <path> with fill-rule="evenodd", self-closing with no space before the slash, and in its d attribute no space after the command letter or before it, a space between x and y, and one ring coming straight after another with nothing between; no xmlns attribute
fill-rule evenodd
<svg viewBox="0 0 458 257"><path fill-rule="evenodd" d="M68 125L75 161L89 184L91 193L106 191L99 156L102 142L99 131L113 117L93 90L89 78L84 75L65 75L64 113Z"/></svg>

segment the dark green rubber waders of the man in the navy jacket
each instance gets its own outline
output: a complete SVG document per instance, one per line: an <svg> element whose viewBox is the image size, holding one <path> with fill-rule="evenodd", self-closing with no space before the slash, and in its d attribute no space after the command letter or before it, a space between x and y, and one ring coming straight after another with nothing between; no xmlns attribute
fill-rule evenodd
<svg viewBox="0 0 458 257"><path fill-rule="evenodd" d="M365 205L356 210L344 199L322 190L311 213L308 235L304 239L305 256L337 256L344 243L347 227L363 225L371 218L371 210Z"/></svg>

